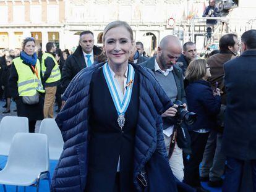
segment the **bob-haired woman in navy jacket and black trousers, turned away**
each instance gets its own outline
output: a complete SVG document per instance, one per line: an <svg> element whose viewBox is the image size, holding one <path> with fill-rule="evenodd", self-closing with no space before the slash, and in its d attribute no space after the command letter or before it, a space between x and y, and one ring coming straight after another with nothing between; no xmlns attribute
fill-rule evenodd
<svg viewBox="0 0 256 192"><path fill-rule="evenodd" d="M210 130L216 127L216 116L221 106L220 89L211 90L211 85L207 81L209 77L210 67L205 59L190 62L186 70L186 79L189 81L186 87L187 104L190 111L198 116L197 121L189 125L192 154L186 159L184 182L200 191L208 191L201 186L199 165L203 159Z"/></svg>

